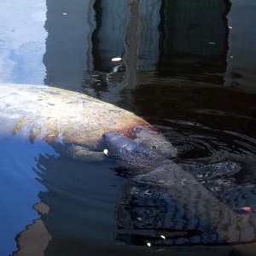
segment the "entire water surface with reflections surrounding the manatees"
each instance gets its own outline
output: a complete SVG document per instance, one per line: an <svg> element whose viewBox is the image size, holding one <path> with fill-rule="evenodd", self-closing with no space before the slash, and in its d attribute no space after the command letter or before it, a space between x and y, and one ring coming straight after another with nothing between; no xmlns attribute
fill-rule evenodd
<svg viewBox="0 0 256 256"><path fill-rule="evenodd" d="M78 90L137 113L227 209L256 210L253 0L0 7L2 83ZM114 160L73 160L19 137L0 147L1 255L255 255L255 227L227 246L196 218L207 201L131 183Z"/></svg>

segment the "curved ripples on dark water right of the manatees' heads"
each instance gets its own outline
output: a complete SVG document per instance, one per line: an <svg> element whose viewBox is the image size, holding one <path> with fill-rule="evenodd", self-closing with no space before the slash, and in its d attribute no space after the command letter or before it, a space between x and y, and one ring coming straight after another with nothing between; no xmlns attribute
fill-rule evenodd
<svg viewBox="0 0 256 256"><path fill-rule="evenodd" d="M168 120L159 126L177 147L177 162L212 190L256 183L256 140L235 131L220 131L196 122Z"/></svg>

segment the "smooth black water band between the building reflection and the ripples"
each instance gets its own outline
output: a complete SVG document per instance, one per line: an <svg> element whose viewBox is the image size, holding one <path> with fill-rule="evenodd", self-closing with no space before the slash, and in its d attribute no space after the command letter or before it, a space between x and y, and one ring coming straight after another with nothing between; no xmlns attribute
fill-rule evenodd
<svg viewBox="0 0 256 256"><path fill-rule="evenodd" d="M195 121L217 130L238 131L255 137L254 94L170 81L158 86L155 83L140 85L133 95L140 113L152 116L154 123L172 126L169 119Z"/></svg>

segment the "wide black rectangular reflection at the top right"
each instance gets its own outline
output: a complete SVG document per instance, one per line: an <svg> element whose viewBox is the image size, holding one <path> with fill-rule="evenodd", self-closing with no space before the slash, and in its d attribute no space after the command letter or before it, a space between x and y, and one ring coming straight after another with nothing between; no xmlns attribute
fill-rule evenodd
<svg viewBox="0 0 256 256"><path fill-rule="evenodd" d="M230 1L162 1L160 76L223 84Z"/></svg>

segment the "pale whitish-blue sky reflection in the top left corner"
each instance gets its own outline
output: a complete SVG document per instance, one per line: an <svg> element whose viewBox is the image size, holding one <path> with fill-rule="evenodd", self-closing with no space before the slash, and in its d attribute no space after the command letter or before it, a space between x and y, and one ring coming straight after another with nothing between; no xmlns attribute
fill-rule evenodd
<svg viewBox="0 0 256 256"><path fill-rule="evenodd" d="M0 17L0 82L44 84L46 3L1 1Z"/></svg>

